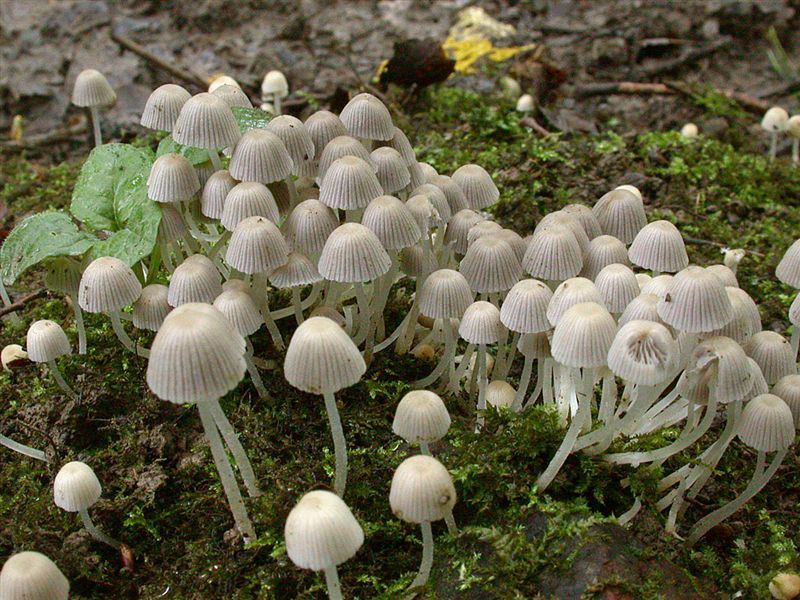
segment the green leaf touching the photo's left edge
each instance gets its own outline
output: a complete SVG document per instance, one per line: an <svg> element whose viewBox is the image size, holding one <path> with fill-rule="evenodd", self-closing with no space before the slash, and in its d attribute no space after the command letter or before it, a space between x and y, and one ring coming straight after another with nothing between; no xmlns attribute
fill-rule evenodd
<svg viewBox="0 0 800 600"><path fill-rule="evenodd" d="M28 268L53 256L78 256L92 247L91 236L61 211L31 215L8 235L0 248L0 274L12 285Z"/></svg>

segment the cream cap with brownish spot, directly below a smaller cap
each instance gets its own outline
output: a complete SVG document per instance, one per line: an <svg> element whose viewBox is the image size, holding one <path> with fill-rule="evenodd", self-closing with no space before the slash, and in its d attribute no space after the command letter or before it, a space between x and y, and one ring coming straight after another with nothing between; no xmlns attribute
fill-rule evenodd
<svg viewBox="0 0 800 600"><path fill-rule="evenodd" d="M442 463L431 456L412 456L394 472L389 504L407 523L438 521L453 510L456 489Z"/></svg>

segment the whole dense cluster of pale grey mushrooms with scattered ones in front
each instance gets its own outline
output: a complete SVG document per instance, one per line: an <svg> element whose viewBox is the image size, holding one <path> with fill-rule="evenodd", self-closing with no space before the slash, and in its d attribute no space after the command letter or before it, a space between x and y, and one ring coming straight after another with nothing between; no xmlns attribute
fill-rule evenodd
<svg viewBox="0 0 800 600"><path fill-rule="evenodd" d="M87 89L80 95L76 84L76 97L113 95L97 72L79 83ZM284 88L265 92L270 108L278 108ZM245 133L235 106L250 101L233 80L195 96L164 85L145 106L143 126L205 149L210 160L195 168L180 154L166 154L147 181L162 223L159 260L142 266L163 269L168 285L142 287L129 265L111 257L85 266L61 258L47 281L76 311L107 315L121 343L149 359L147 384L157 397L196 404L246 541L257 534L234 466L250 496L260 493L258 480L219 399L245 372L268 396L263 363L248 338L264 326L283 350L277 322L286 318L297 328L286 346L284 377L323 397L336 462L333 491L309 492L289 513L286 548L299 567L325 573L331 598L341 597L337 565L364 542L345 503L347 423L335 395L390 349L436 361L430 374L408 382L415 391L400 400L393 422L397 435L419 446L397 467L389 497L398 518L421 528L423 557L412 593L430 574L431 524L444 520L452 534L458 531L453 481L430 448L450 427L443 397L474 399L476 431L487 404L515 412L551 407L566 433L547 468L528 482L539 492L573 453L661 465L716 432L659 482L658 508L670 531L738 437L755 453L752 479L689 529L689 544L774 475L800 426L800 299L790 312L791 341L763 331L758 306L737 283L741 250L727 251L723 264L690 265L678 229L668 221L648 223L642 195L627 185L591 208L572 204L546 215L523 238L483 212L500 195L483 168L468 164L444 175L418 162L389 110L370 94L352 98L339 115L322 110L305 122L276 115L266 128ZM800 240L777 276L800 289ZM401 279L411 282L413 300L389 331L384 309ZM292 292L287 306L274 306L280 289ZM131 339L128 320L157 332L150 348ZM84 352L85 335L81 340ZM46 363L64 393L75 396L56 362L70 350L58 324L30 326L29 358ZM720 419L724 426L712 428ZM679 433L660 448L608 452L615 441L619 446L665 427ZM47 460L39 450L0 441ZM87 465L64 466L54 489L56 503L78 512L94 537L119 544L89 518L100 484ZM640 508L637 499L619 521L629 522ZM25 595L44 589L49 595ZM3 598L66 598L67 591L57 567L35 553L15 555L0 574Z"/></svg>

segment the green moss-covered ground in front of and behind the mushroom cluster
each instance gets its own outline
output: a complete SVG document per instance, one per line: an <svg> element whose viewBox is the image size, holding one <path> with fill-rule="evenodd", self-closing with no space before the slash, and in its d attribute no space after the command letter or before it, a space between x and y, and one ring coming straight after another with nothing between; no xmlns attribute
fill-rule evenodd
<svg viewBox="0 0 800 600"><path fill-rule="evenodd" d="M723 114L729 132L748 125L747 117L725 102L700 95L698 114L704 111ZM483 165L501 190L496 217L523 235L549 211L571 202L591 204L616 185L634 183L644 193L651 220L669 219L696 240L689 244L693 261L720 262L723 246L746 249L740 284L759 302L765 326L786 331L792 290L773 272L800 231L800 169L785 160L769 162L747 136L622 137L609 124L608 133L598 136L540 137L520 124L509 102L451 87L428 92L407 113L398 124L409 132L419 158L441 172L467 162ZM0 200L9 208L9 223L68 203L78 169L75 162L42 167L24 157L3 158ZM407 308L405 283L392 295L389 329ZM19 289L40 285L33 273ZM25 325L35 318L57 320L74 339L69 315L60 298L50 298L32 304L23 316ZM0 342L24 343L25 325L4 321ZM264 491L246 500L259 538L243 548L226 535L232 521L196 409L161 402L147 391L145 363L116 343L107 319L90 315L87 325L89 354L60 360L80 401L65 399L36 365L0 374L0 431L46 448L51 456L44 465L0 449L0 555L44 552L71 580L75 598L322 597L323 579L291 564L282 535L285 517L302 493L332 479L321 399L291 388L282 377L280 356L263 332L256 336L257 355L274 366L263 373L271 399L259 399L246 379L222 403ZM291 332L289 322L282 327L284 334ZM142 341L149 340L143 335ZM419 532L395 519L388 506L393 469L408 453L392 435L391 420L408 382L430 368L385 352L361 383L337 395L350 450L347 501L367 540L340 568L347 597L399 597L418 566ZM572 457L547 494L537 494L535 477L562 436L554 415L541 408L519 416L490 411L486 430L476 435L465 398L449 399L448 408L453 427L434 451L452 470L462 534L448 536L440 524L434 529L437 553L450 563L455 575L447 577L455 584L443 591L432 582L431 597L464 597L470 588L486 587L499 598L534 597L543 575L567 572L576 551L572 540L627 510L632 496L620 482L631 471ZM674 433L639 444L658 444ZM53 476L58 466L76 459L92 465L103 482L103 498L92 513L101 528L134 550L133 568L122 569L113 550L91 541L75 515L54 506ZM734 443L684 525L732 499L753 463L752 453ZM668 462L664 469L676 464ZM736 590L747 598L768 597L767 582L776 572L800 569L792 541L800 530L796 452L756 499L692 550L659 528L661 517L648 491L657 475L644 471L634 478L645 497L645 510L632 529L642 542L637 553L643 560L671 560L700 597ZM525 524L541 514L546 524L531 538ZM487 561L489 555L493 559ZM447 578L437 573L434 579ZM613 585L635 598L670 597L662 584L657 576L631 583L623 574L587 594L602 596Z"/></svg>

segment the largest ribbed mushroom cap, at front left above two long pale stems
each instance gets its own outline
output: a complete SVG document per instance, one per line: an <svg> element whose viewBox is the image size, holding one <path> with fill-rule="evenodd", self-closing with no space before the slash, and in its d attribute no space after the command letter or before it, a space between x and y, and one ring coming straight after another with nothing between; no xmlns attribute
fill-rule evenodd
<svg viewBox="0 0 800 600"><path fill-rule="evenodd" d="M210 304L184 304L164 319L147 363L147 385L175 404L217 400L244 377L245 342Z"/></svg>

